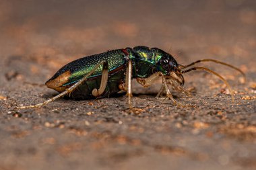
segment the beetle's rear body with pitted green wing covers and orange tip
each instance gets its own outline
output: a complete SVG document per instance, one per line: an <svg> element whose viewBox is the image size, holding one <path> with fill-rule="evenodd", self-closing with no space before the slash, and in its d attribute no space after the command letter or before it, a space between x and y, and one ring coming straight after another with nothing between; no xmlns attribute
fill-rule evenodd
<svg viewBox="0 0 256 170"><path fill-rule="evenodd" d="M79 79L82 79L84 75L87 75L101 60L108 62L109 71L108 85L102 97L117 93L120 91L120 89L118 89L119 83L124 81L124 67L128 60L127 54L125 54L123 50L111 50L69 62L46 82L46 86L62 92L73 83L79 81ZM92 90L100 86L102 68L102 65L98 67L98 69L88 77L86 82L71 93L70 97L74 99L88 99L93 97Z"/></svg>

